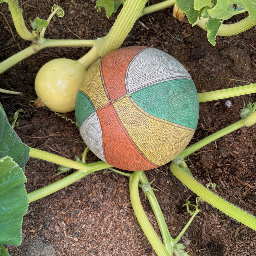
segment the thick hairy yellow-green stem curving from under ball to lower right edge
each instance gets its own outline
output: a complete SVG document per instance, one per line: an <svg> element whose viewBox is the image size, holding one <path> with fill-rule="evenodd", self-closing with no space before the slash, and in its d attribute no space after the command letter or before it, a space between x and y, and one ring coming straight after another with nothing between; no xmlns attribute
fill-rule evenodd
<svg viewBox="0 0 256 256"><path fill-rule="evenodd" d="M183 170L180 169L179 166L174 162L170 164L170 170L176 178L178 178L185 186L187 186L190 190L192 190L195 194L200 196L206 202L208 202L218 210L224 212L231 218L256 230L256 218L254 216L215 195L209 189L197 182L194 178L183 172Z"/></svg>

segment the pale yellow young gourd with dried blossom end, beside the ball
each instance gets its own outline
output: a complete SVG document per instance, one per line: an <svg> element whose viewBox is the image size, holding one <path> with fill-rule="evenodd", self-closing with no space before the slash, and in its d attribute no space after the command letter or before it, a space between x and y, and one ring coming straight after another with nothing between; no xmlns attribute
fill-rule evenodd
<svg viewBox="0 0 256 256"><path fill-rule="evenodd" d="M35 106L46 106L60 113L74 111L77 90L85 72L84 66L76 60L60 58L47 62L36 76L38 99Z"/></svg>

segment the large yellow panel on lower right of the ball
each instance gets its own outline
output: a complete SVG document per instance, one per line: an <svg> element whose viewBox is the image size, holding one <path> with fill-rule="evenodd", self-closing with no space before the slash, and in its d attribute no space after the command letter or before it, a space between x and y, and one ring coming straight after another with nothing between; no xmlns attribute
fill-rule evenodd
<svg viewBox="0 0 256 256"><path fill-rule="evenodd" d="M123 97L113 105L141 153L158 166L175 158L194 135L194 129L148 114L131 97Z"/></svg>

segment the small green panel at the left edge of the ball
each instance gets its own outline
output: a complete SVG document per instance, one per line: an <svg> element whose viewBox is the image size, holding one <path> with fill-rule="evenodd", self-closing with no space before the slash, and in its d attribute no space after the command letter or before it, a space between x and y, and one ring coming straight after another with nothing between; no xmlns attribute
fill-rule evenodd
<svg viewBox="0 0 256 256"><path fill-rule="evenodd" d="M78 129L80 129L80 126L82 125L84 120L86 120L94 111L94 105L92 104L89 97L81 91L78 91L75 105L75 114Z"/></svg>

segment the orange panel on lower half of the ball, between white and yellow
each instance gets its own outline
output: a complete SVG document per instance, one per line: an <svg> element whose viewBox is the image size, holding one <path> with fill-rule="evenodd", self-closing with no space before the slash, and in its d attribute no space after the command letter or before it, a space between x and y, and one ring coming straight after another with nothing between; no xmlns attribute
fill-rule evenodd
<svg viewBox="0 0 256 256"><path fill-rule="evenodd" d="M96 113L102 129L104 156L110 165L133 171L157 167L138 150L120 122L112 103L100 108Z"/></svg>

